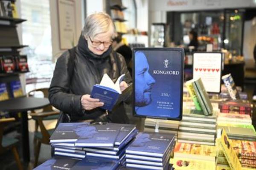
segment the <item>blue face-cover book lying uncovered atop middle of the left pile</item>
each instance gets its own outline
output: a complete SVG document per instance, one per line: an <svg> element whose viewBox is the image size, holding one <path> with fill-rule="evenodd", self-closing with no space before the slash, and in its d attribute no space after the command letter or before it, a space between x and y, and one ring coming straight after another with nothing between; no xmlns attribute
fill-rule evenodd
<svg viewBox="0 0 256 170"><path fill-rule="evenodd" d="M106 123L81 127L76 130L79 138L75 142L78 147L113 147L121 128L120 124Z"/></svg>

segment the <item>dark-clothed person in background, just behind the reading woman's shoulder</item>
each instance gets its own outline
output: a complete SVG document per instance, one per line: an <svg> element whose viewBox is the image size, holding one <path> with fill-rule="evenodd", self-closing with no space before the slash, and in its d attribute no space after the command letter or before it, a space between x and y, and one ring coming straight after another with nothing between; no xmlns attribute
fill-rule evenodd
<svg viewBox="0 0 256 170"><path fill-rule="evenodd" d="M122 42L122 34L118 33L113 39L113 50L125 57L125 62L128 67L128 71L132 75L132 51L131 48Z"/></svg>

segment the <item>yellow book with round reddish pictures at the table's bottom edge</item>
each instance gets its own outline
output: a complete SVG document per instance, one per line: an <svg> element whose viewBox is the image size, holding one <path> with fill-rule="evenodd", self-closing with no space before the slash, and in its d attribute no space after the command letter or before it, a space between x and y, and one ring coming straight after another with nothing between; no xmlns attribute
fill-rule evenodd
<svg viewBox="0 0 256 170"><path fill-rule="evenodd" d="M201 161L189 158L173 158L170 159L175 170L215 170L215 161Z"/></svg>

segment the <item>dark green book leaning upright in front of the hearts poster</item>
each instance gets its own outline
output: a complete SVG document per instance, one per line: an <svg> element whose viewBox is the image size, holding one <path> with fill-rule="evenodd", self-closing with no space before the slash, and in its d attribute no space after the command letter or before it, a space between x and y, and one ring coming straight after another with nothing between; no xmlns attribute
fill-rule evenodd
<svg viewBox="0 0 256 170"><path fill-rule="evenodd" d="M192 79L192 85L195 89L195 94L198 98L200 106L205 115L212 115L212 104L210 102L209 96L204 88L204 84L201 78Z"/></svg>

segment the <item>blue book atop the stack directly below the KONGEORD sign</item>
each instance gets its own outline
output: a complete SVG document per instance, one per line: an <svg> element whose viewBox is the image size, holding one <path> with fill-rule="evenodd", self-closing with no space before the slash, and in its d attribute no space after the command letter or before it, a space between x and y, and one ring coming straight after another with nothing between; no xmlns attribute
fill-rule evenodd
<svg viewBox="0 0 256 170"><path fill-rule="evenodd" d="M175 141L175 134L139 133L126 153L163 158Z"/></svg>

